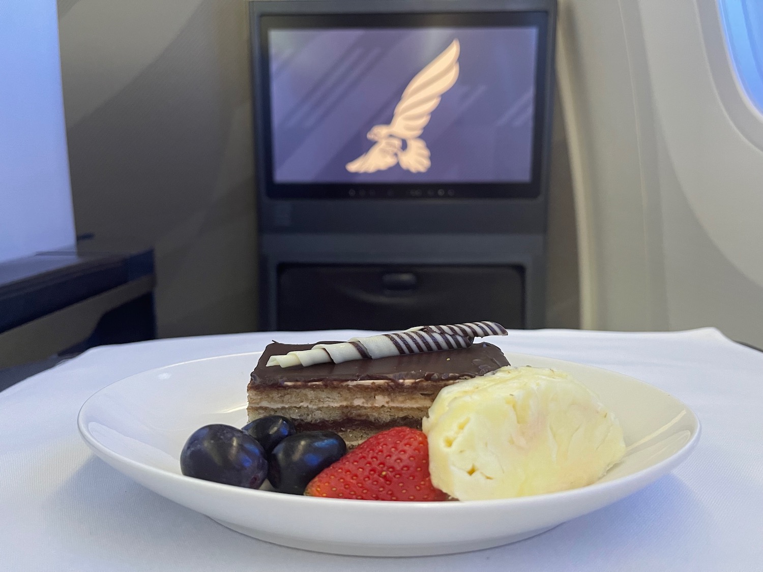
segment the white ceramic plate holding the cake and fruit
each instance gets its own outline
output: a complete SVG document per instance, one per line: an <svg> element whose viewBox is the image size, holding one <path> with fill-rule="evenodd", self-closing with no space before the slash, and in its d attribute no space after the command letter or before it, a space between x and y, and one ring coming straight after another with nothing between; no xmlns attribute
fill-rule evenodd
<svg viewBox="0 0 763 572"><path fill-rule="evenodd" d="M507 353L512 365L568 371L594 390L623 425L623 461L589 487L450 503L321 499L183 476L180 451L195 429L246 423L246 384L259 355L183 362L117 381L85 402L79 431L118 471L230 529L280 545L364 556L448 554L528 538L652 483L687 458L700 435L694 413L651 385L586 365Z"/></svg>

